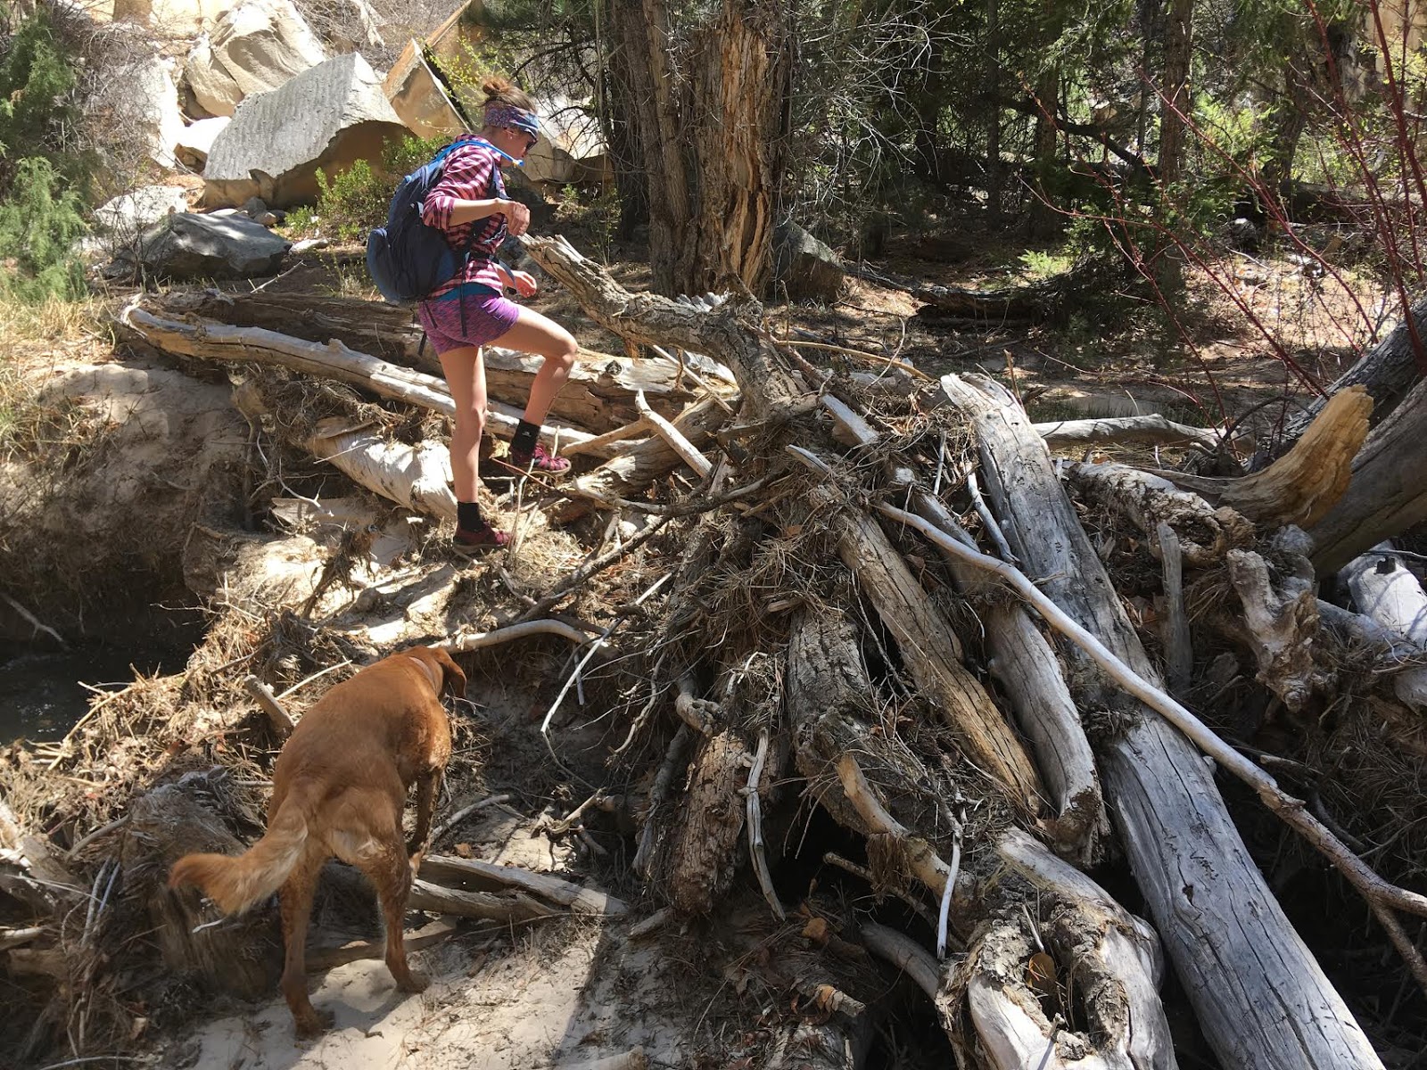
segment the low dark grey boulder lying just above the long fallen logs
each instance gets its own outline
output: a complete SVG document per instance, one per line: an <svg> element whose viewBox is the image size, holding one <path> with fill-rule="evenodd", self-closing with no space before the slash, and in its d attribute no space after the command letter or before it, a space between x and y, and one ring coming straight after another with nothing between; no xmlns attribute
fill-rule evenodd
<svg viewBox="0 0 1427 1070"><path fill-rule="evenodd" d="M238 213L164 217L106 274L160 280L254 278L277 271L291 243Z"/></svg>

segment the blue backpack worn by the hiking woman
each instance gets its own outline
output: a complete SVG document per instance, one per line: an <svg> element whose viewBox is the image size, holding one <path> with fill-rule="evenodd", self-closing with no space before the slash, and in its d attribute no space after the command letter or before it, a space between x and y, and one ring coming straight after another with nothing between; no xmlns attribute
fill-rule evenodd
<svg viewBox="0 0 1427 1070"><path fill-rule="evenodd" d="M441 181L447 156L472 140L458 137L437 153L431 163L402 178L391 198L387 225L377 227L367 235L367 270L381 295L391 304L417 301L465 268L471 240L467 240L467 247L461 251L451 248L445 234L421 218L421 205ZM491 170L491 188L495 190L495 168ZM477 230L479 228L471 228L471 238Z"/></svg>

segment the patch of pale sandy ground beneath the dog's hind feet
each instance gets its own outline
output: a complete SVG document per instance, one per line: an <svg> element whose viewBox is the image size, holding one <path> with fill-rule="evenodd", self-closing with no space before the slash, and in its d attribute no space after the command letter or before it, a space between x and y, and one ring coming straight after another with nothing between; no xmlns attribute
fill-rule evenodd
<svg viewBox="0 0 1427 1070"><path fill-rule="evenodd" d="M381 962L330 970L313 1003L335 1014L320 1040L293 1039L275 999L201 1026L173 1046L166 1067L200 1070L537 1070L578 1066L644 1046L654 1066L688 1066L689 1040L659 1020L671 1010L675 963L624 940L624 923L564 922L497 946L455 937L418 952L431 987L392 987Z"/></svg>

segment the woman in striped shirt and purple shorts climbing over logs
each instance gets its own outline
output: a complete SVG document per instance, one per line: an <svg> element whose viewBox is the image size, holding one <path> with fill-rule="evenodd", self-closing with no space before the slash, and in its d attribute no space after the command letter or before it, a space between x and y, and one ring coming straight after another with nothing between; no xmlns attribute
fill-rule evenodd
<svg viewBox="0 0 1427 1070"><path fill-rule="evenodd" d="M545 358L511 439L509 465L549 475L567 472L569 461L545 452L539 444L541 424L569 378L578 350L564 327L505 297L505 287L521 297L532 297L538 288L525 271L511 271L501 264L497 251L507 234L519 235L529 228L529 208L505 195L501 165L519 164L535 147L539 120L535 101L505 78L488 78L481 88L485 93L481 134L464 138L451 150L441 180L421 208L422 220L440 228L451 248L469 247L471 254L462 271L417 307L455 399L451 475L457 529L452 548L467 556L498 549L509 541L507 532L481 516L475 499L487 401L481 347L498 341Z"/></svg>

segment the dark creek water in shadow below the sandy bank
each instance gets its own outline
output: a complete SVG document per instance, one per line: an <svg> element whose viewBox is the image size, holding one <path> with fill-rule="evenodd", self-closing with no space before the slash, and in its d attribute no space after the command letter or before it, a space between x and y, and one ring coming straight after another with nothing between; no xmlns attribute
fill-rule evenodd
<svg viewBox="0 0 1427 1070"><path fill-rule="evenodd" d="M134 646L87 642L53 646L0 642L0 746L21 736L63 739L88 710L93 692L84 685L117 691L134 672L181 669L191 646L140 642Z"/></svg>

